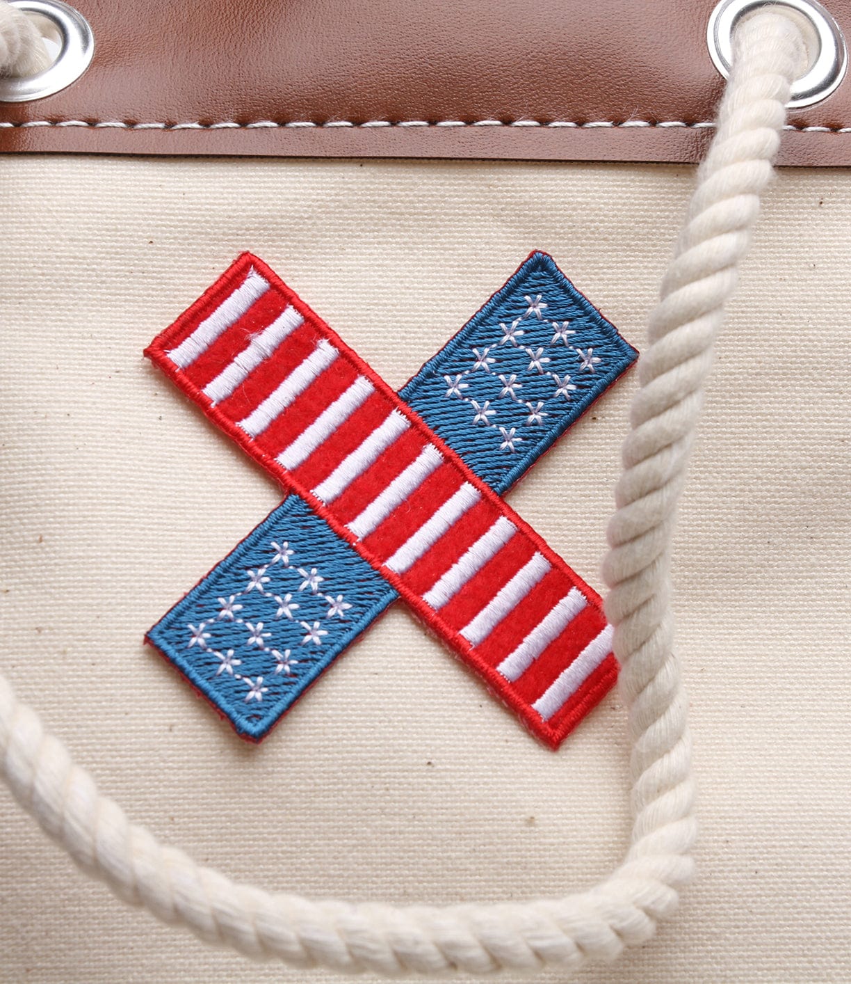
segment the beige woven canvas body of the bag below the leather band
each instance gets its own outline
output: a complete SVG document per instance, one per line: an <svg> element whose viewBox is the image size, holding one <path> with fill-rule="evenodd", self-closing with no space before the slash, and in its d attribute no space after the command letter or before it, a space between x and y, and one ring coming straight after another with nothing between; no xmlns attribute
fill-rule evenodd
<svg viewBox="0 0 851 984"><path fill-rule="evenodd" d="M616 695L553 754L400 604L253 747L142 646L280 499L142 348L244 249L394 386L533 249L641 348L692 180L625 165L0 161L0 660L134 820L270 889L397 903L568 892L618 862ZM845 172L784 171L767 197L676 553L699 877L652 943L582 981L851 979L849 228ZM634 386L510 496L598 588ZM212 951L126 908L2 790L0 829L4 981L340 979Z"/></svg>

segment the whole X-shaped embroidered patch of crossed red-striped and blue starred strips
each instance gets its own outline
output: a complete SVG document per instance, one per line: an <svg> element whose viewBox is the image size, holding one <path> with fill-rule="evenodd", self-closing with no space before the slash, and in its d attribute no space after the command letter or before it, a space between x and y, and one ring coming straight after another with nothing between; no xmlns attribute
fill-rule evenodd
<svg viewBox="0 0 851 984"><path fill-rule="evenodd" d="M400 595L552 748L612 686L598 595L501 498L637 357L550 257L399 394L250 254L146 354L290 493L147 635L240 735Z"/></svg>

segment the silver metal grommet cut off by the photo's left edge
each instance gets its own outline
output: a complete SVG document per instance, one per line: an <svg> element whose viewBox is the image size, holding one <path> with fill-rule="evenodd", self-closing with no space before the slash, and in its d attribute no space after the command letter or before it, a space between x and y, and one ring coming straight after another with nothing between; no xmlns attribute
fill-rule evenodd
<svg viewBox="0 0 851 984"><path fill-rule="evenodd" d="M28 102L60 92L83 75L94 54L94 34L85 17L61 0L10 0L13 7L47 22L59 53L43 72L21 79L0 78L0 102Z"/></svg>

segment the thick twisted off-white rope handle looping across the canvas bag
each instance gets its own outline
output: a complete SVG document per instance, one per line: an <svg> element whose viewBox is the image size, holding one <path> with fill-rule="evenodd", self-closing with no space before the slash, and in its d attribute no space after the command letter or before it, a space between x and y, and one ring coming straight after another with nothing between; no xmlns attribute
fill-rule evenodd
<svg viewBox="0 0 851 984"><path fill-rule="evenodd" d="M0 34L11 61L9 8ZM11 39L10 39L11 38ZM20 43L19 43L20 42ZM16 47L17 44L17 47ZM632 844L589 892L448 908L353 905L232 882L128 822L0 677L0 770L13 795L89 875L201 939L296 965L385 974L578 967L643 943L676 908L695 839L686 698L668 611L674 514L709 373L711 346L771 176L803 45L786 17L761 12L736 36L717 132L699 171L675 258L650 321L623 447L604 577L633 743Z"/></svg>

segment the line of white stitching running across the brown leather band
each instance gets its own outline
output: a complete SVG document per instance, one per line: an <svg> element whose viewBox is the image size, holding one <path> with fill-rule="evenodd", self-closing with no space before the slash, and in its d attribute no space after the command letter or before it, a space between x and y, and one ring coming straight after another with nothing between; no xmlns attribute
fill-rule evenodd
<svg viewBox="0 0 851 984"><path fill-rule="evenodd" d="M233 120L223 120L221 123L124 123L121 120L27 120L24 123L11 123L0 120L0 129L23 130L28 127L82 127L88 130L330 130L337 127L349 127L360 129L378 129L381 127L480 127L480 126L501 126L501 127L541 127L549 130L571 129L571 130L627 130L627 129L655 129L667 130L685 128L688 130L711 129L714 123L702 121L698 123L686 123L684 120L660 120L651 123L648 120L624 120L616 123L612 120L592 120L588 123L574 123L568 120L551 120L543 122L541 120L512 120L503 123L502 120L473 120L467 123L464 120L438 120L429 123L428 120L400 120L396 123L390 120L367 120L365 123L353 123L350 120L328 120L325 123L314 123L311 120L293 120L289 123L276 123L274 120L256 120L253 123L235 123ZM830 126L795 126L787 123L784 130L797 130L799 133L851 133L851 126L830 127Z"/></svg>

